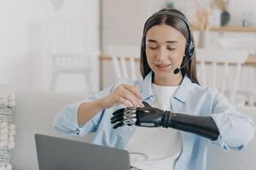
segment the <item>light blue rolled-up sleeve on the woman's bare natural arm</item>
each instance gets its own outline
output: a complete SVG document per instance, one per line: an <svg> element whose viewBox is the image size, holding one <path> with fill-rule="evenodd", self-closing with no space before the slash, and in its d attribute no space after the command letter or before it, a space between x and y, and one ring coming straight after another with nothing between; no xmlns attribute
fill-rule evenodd
<svg viewBox="0 0 256 170"><path fill-rule="evenodd" d="M104 110L96 113L96 116L92 117L89 122L85 123L83 126L79 126L78 123L78 111L79 106L85 102L94 101L96 99L101 99L102 97L108 95L113 89L113 86L105 88L98 94L87 97L79 102L69 104L64 106L61 111L55 116L54 127L55 131L61 133L62 135L82 136L87 133L96 132L96 129L101 122L102 114ZM85 113L86 114L86 113Z"/></svg>

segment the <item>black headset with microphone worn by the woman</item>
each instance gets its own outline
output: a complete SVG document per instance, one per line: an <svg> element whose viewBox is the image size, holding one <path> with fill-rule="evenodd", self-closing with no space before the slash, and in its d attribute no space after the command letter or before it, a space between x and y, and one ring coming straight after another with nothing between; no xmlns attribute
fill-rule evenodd
<svg viewBox="0 0 256 170"><path fill-rule="evenodd" d="M178 14L177 12L175 11L159 11L153 15L151 15L148 20L146 21L145 25L144 25L144 30L143 30L143 40L142 40L142 48L143 48L143 51L146 51L146 35L145 35L145 31L148 30L148 22L150 19L152 19L154 16L156 15L160 15L160 14L167 14L169 16L174 16L174 17L177 17L178 19L180 20L183 20L183 22L185 23L185 25L187 26L188 28L188 31L189 31L189 39L188 39L188 42L187 42L187 45L186 45L186 49L185 49L185 57L188 57L189 58L189 61L192 59L192 56L193 54L195 53L195 42L194 42L194 38L193 38L193 35L191 33L191 30L190 30L190 26L189 26L189 22L181 15L181 14ZM188 63L184 64L181 68L177 68L174 70L174 74L177 74L185 65L188 65L189 64L189 61Z"/></svg>

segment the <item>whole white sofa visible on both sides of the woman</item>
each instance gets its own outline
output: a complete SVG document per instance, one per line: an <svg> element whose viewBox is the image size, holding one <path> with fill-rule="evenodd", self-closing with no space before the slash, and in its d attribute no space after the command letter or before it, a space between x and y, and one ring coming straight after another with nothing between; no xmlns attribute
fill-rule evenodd
<svg viewBox="0 0 256 170"><path fill-rule="evenodd" d="M11 163L14 169L38 169L34 134L44 133L60 136L55 133L53 119L63 105L82 99L83 95L52 94L49 92L34 92L17 90L14 121L17 127L15 148L12 150ZM256 122L256 110L242 108L248 116ZM71 137L80 141L90 142L91 135L85 137ZM212 145L209 148L207 169L255 169L256 140L247 145L246 150L224 151Z"/></svg>

